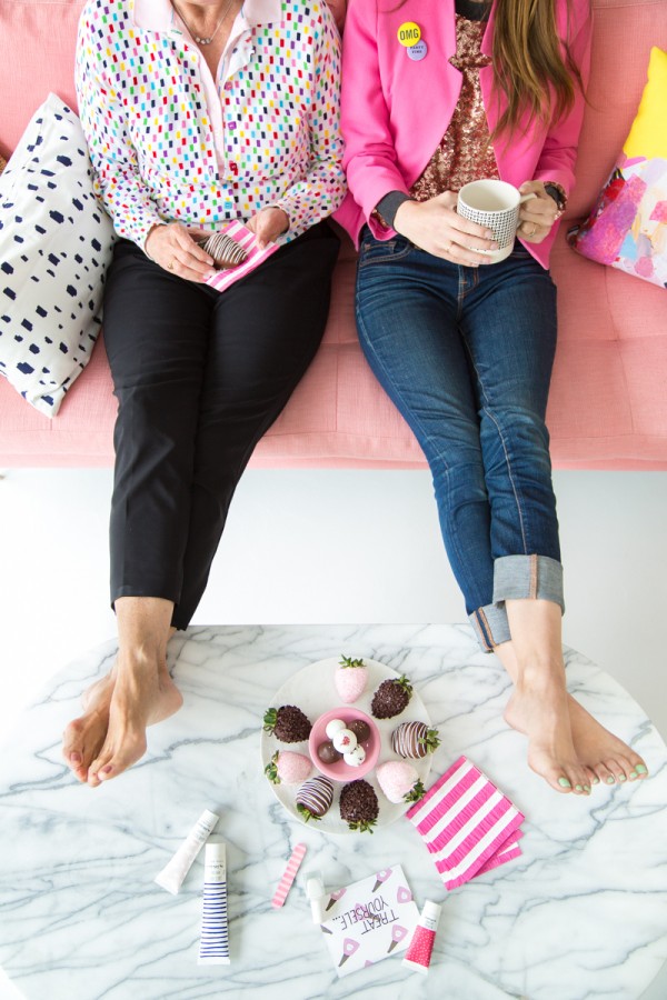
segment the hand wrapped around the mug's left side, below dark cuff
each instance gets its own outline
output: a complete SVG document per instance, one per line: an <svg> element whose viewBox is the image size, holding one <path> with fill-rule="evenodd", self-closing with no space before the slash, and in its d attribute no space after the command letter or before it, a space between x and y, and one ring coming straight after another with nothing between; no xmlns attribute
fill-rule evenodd
<svg viewBox="0 0 667 1000"><path fill-rule="evenodd" d="M435 257L468 267L488 263L488 257L476 251L496 250L498 243L494 233L485 226L458 216L456 203L457 196L452 191L428 201L404 201L396 212L394 228Z"/></svg>

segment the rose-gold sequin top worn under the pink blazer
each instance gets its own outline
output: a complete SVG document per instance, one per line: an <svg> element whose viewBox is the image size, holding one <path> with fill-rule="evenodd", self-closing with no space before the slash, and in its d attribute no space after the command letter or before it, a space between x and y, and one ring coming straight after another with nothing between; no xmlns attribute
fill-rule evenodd
<svg viewBox="0 0 667 1000"><path fill-rule="evenodd" d="M491 59L480 51L486 21L456 14L456 56L449 60L461 72L461 91L440 144L426 170L410 189L416 201L427 201L445 191L485 177L499 178L479 86L479 70Z"/></svg>

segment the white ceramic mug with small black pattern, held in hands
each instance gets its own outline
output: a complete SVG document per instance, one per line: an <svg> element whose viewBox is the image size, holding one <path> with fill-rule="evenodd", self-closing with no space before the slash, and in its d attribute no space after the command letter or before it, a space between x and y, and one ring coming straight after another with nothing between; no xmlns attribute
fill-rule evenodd
<svg viewBox="0 0 667 1000"><path fill-rule="evenodd" d="M458 193L456 210L464 219L479 222L494 233L497 250L480 250L489 263L498 263L511 253L519 226L519 206L535 198L521 194L512 184L489 178L465 184ZM477 248L476 248L477 249Z"/></svg>

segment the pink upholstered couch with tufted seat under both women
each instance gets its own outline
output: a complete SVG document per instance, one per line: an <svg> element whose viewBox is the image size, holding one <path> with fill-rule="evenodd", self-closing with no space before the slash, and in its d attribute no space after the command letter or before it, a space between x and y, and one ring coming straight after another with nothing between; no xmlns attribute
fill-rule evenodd
<svg viewBox="0 0 667 1000"><path fill-rule="evenodd" d="M76 107L72 66L82 0L0 0L0 152L11 152L49 91ZM667 49L667 0L593 0L594 64L568 219L587 213L628 132L651 44ZM548 422L554 463L667 469L667 291L584 260L552 256L560 340ZM424 466L376 383L355 330L355 254L341 250L323 343L256 466ZM100 342L50 421L0 379L0 467L108 466L116 401Z"/></svg>

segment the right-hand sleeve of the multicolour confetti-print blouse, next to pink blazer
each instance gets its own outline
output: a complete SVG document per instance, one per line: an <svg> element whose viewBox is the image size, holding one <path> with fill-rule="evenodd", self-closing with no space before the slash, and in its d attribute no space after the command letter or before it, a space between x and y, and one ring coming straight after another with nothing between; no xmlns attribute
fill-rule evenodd
<svg viewBox="0 0 667 1000"><path fill-rule="evenodd" d="M296 234L330 216L347 190L340 133L340 37L326 4L313 59L316 88L308 122L308 168L303 178L273 202L287 212L290 232Z"/></svg>

